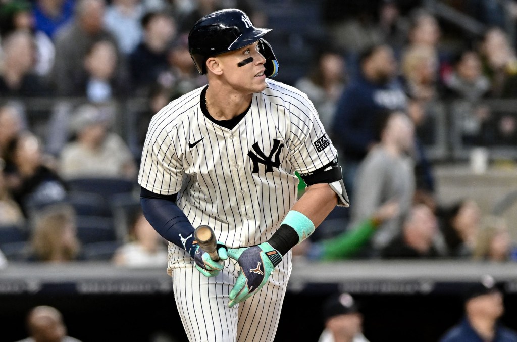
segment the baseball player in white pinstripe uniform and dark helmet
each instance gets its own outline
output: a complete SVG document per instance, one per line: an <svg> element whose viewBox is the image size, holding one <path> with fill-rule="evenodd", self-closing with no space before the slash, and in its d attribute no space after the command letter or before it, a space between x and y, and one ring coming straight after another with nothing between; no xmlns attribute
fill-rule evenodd
<svg viewBox="0 0 517 342"><path fill-rule="evenodd" d="M208 85L161 109L142 152L141 204L169 244L168 273L190 341L272 341L290 249L336 204L337 152L307 96L268 79L278 62L238 9L201 18L189 51ZM297 200L298 172L308 188ZM219 261L194 239L207 225Z"/></svg>

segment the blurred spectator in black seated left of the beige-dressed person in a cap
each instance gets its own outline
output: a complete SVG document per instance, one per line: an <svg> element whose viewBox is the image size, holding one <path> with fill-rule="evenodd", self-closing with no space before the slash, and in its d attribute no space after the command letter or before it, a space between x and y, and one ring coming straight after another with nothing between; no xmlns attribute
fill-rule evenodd
<svg viewBox="0 0 517 342"><path fill-rule="evenodd" d="M13 197L26 217L32 206L62 201L67 194L65 182L44 157L39 139L31 132L21 133L7 147L7 158L19 177Z"/></svg>

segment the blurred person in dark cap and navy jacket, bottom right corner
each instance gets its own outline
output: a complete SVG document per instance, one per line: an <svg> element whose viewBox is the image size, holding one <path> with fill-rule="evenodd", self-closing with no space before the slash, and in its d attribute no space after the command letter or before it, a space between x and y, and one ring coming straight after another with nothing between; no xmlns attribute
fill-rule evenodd
<svg viewBox="0 0 517 342"><path fill-rule="evenodd" d="M517 333L498 319L504 314L503 294L492 277L465 291L465 318L450 329L440 342L515 342Z"/></svg>

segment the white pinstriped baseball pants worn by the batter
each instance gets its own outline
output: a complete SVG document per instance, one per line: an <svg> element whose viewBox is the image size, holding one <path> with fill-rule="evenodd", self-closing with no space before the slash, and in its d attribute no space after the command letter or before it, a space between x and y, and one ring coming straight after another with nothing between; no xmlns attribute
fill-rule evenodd
<svg viewBox="0 0 517 342"><path fill-rule="evenodd" d="M272 342L277 332L287 281L291 275L289 251L269 281L246 301L228 307L239 265L226 260L224 269L207 278L190 263L172 272L174 298L191 342Z"/></svg>

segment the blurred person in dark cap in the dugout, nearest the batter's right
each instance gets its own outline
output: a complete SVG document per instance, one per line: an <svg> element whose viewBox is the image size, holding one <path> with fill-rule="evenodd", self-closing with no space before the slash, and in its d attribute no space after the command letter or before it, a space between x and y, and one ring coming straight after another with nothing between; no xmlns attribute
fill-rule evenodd
<svg viewBox="0 0 517 342"><path fill-rule="evenodd" d="M323 305L325 330L318 342L368 342L362 334L362 315L349 293L332 295Z"/></svg>

